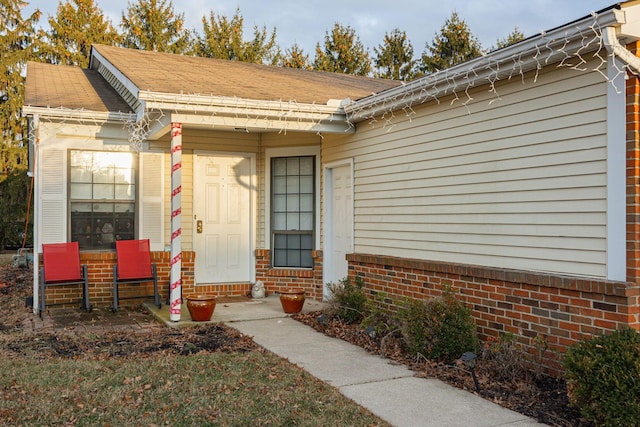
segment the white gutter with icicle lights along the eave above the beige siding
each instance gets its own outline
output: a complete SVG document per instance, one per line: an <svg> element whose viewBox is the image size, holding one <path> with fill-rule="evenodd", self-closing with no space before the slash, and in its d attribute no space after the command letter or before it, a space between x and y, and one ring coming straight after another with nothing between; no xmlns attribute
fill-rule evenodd
<svg viewBox="0 0 640 427"><path fill-rule="evenodd" d="M531 71L540 62L548 62L538 59L541 55L555 52L557 60L561 61L564 57L585 49L582 37L589 28L604 29L621 24L621 20L624 20L624 15L611 9L598 15L595 20L593 17L584 18L380 94L353 101L345 105L344 110L350 122L357 122L389 109L401 109L416 102L424 102L425 89L428 89L427 96L438 97L453 93L458 82L464 82L465 87L482 86L487 84L487 77L490 75L500 78L508 77L514 72L520 74Z"/></svg>

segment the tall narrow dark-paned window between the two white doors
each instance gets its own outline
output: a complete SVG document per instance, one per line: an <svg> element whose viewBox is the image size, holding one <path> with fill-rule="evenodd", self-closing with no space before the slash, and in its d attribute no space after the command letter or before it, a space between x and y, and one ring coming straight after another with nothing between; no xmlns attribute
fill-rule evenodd
<svg viewBox="0 0 640 427"><path fill-rule="evenodd" d="M313 156L271 159L274 267L313 267L314 165Z"/></svg>

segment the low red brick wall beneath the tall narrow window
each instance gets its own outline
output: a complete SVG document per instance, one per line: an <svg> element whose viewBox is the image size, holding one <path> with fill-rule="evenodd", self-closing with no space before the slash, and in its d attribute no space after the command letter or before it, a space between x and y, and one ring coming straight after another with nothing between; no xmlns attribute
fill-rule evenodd
<svg viewBox="0 0 640 427"><path fill-rule="evenodd" d="M322 251L312 251L313 268L271 268L271 251L258 249L256 254L256 281L264 283L268 294L287 288L303 288L306 297L322 300Z"/></svg>

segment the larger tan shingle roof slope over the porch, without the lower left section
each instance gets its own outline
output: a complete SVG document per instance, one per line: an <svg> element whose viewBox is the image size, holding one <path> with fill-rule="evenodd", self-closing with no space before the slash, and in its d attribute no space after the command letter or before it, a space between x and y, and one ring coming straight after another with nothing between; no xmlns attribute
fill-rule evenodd
<svg viewBox="0 0 640 427"><path fill-rule="evenodd" d="M93 48L140 90L326 104L398 86L384 79L174 55L113 46Z"/></svg>

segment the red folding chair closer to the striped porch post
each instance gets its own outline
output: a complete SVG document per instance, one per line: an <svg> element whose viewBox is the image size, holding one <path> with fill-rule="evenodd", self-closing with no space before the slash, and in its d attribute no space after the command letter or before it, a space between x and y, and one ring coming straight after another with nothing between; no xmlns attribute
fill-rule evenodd
<svg viewBox="0 0 640 427"><path fill-rule="evenodd" d="M121 299L154 298L160 308L160 294L158 293L158 275L156 265L151 262L149 239L144 240L116 240L116 265L113 266L113 309L118 309ZM119 286L126 283L153 282L153 295L136 295L120 298Z"/></svg>

